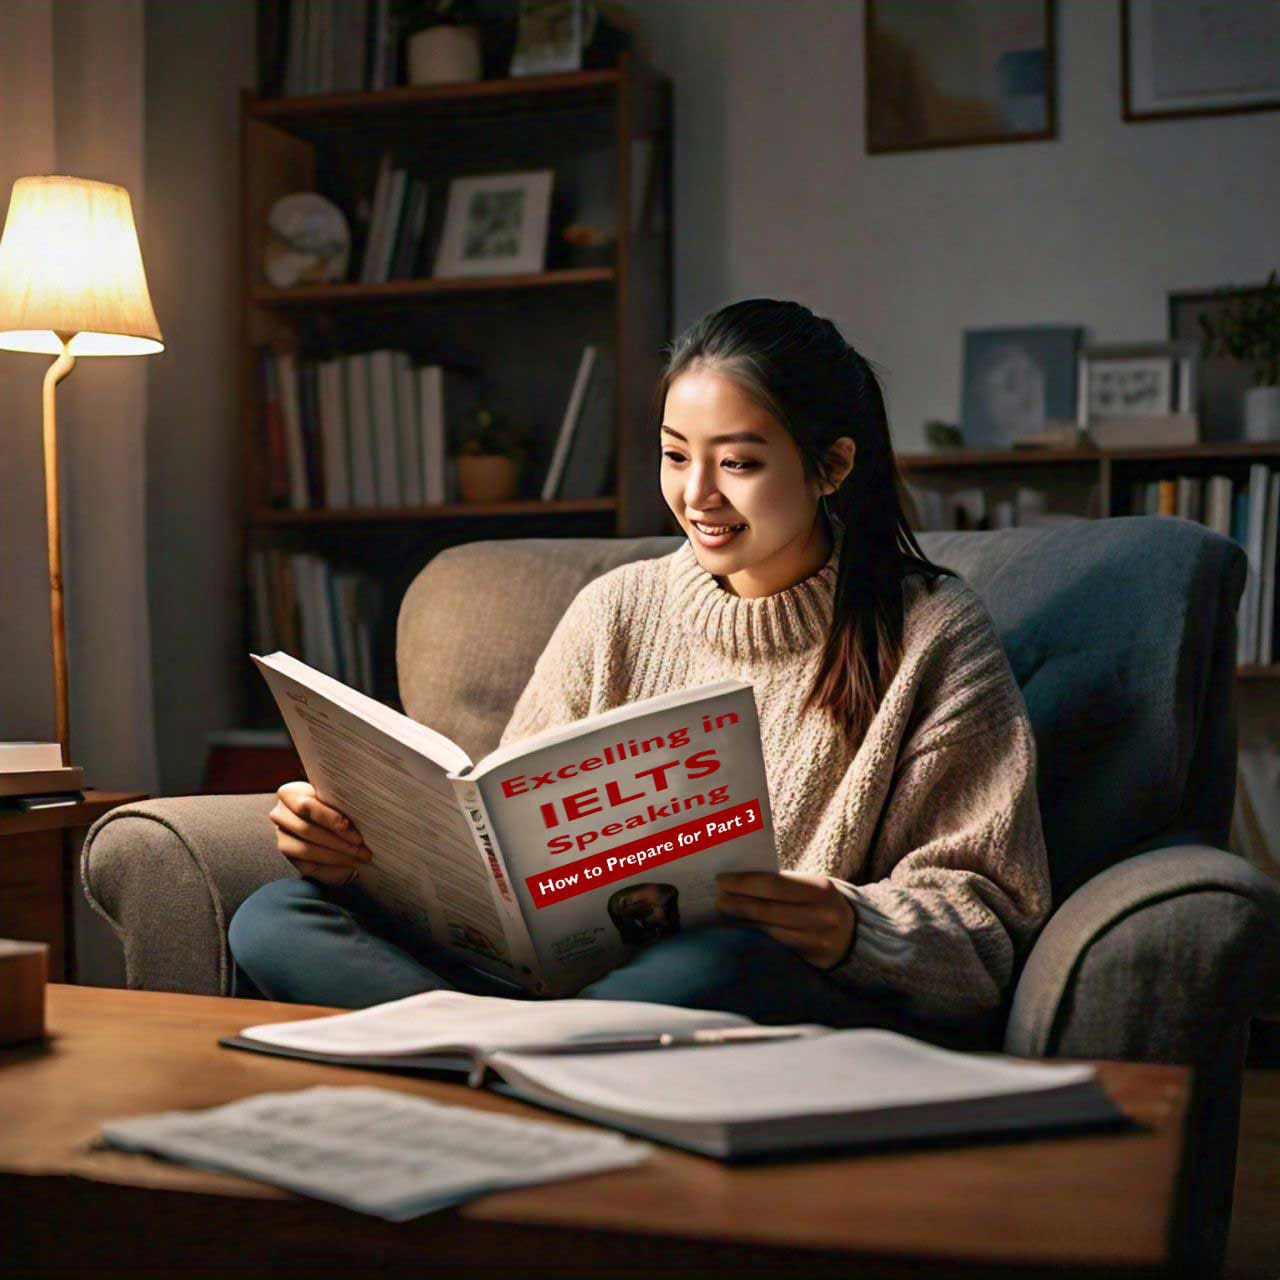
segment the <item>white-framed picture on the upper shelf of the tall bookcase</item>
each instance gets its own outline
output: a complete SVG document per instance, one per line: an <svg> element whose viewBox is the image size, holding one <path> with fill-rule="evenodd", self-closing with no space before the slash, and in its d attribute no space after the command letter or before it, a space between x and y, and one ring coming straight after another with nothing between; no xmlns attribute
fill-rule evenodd
<svg viewBox="0 0 1280 1280"><path fill-rule="evenodd" d="M552 170L454 178L435 275L517 275L545 269Z"/></svg>

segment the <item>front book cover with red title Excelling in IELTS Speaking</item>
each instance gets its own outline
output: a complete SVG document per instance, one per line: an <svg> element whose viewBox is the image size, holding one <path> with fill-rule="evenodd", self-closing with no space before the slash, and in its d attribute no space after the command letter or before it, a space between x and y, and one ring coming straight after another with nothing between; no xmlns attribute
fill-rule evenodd
<svg viewBox="0 0 1280 1280"><path fill-rule="evenodd" d="M634 703L486 758L479 787L538 954L570 995L722 919L716 874L777 870L750 685Z"/></svg>

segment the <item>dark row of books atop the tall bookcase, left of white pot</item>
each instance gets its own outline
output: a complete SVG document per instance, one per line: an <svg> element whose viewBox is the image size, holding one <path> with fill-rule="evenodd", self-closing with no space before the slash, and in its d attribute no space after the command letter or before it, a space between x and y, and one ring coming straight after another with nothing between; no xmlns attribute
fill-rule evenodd
<svg viewBox="0 0 1280 1280"><path fill-rule="evenodd" d="M397 83L392 0L275 0L268 92L358 93Z"/></svg>

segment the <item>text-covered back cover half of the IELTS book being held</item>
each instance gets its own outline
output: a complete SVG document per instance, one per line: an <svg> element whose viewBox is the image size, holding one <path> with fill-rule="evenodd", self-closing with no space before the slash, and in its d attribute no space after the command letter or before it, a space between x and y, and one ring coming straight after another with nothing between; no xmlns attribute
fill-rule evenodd
<svg viewBox="0 0 1280 1280"><path fill-rule="evenodd" d="M374 855L360 888L424 942L517 980L494 884L448 781L466 753L285 654L253 660L316 794Z"/></svg>

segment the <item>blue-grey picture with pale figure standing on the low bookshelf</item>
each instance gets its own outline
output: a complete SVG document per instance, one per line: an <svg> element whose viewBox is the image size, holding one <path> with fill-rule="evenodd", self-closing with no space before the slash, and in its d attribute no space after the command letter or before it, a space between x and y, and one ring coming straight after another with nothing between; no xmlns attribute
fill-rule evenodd
<svg viewBox="0 0 1280 1280"><path fill-rule="evenodd" d="M1074 325L965 330L965 447L1007 449L1019 436L1074 422L1080 338Z"/></svg>

